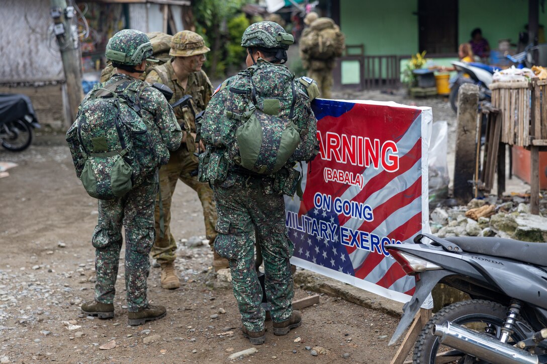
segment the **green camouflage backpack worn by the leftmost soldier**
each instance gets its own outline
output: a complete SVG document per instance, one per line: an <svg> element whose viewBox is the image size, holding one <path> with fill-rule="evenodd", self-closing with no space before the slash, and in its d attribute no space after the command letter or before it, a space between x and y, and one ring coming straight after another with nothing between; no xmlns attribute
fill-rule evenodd
<svg viewBox="0 0 547 364"><path fill-rule="evenodd" d="M159 157L139 105L146 84L134 81L120 87L126 82L96 85L79 107L71 128L77 132L67 133L69 143L69 138L78 138L84 156L79 178L88 194L98 199L124 196L158 166Z"/></svg>

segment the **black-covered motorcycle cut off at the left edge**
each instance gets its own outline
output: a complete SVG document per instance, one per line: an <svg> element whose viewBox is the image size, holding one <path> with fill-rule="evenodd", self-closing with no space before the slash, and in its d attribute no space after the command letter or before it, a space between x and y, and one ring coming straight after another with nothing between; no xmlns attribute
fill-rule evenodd
<svg viewBox="0 0 547 364"><path fill-rule="evenodd" d="M32 143L33 129L40 124L31 99L19 93L0 93L0 144L22 151Z"/></svg>

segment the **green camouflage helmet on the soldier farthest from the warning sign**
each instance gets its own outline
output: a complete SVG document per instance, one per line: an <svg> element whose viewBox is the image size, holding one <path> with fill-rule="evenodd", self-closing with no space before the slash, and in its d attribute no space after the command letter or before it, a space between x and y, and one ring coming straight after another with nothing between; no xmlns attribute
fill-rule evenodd
<svg viewBox="0 0 547 364"><path fill-rule="evenodd" d="M104 56L107 60L127 66L141 64L144 59L157 62L148 58L152 56L152 43L147 35L134 29L124 29L114 34L108 40Z"/></svg>

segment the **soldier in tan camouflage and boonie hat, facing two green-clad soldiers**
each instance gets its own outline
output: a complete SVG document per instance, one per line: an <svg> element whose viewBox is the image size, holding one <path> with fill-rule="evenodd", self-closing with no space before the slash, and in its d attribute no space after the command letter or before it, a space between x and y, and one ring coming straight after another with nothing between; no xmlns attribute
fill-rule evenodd
<svg viewBox="0 0 547 364"><path fill-rule="evenodd" d="M160 201L156 201L156 241L152 248L152 256L161 265L161 287L164 289L177 289L180 286L174 260L176 258L177 242L171 233L171 201L177 180L183 181L197 192L197 196L203 207L203 219L205 220L205 233L213 247L217 232L214 226L217 224L217 208L214 204L213 191L207 183L197 180L198 151L195 144L196 125L195 114L205 110L211 99L211 81L202 71L201 67L206 60L205 54L210 51L203 42L203 38L191 31L182 31L175 34L171 40L169 54L173 57L170 61L155 67L146 77L149 83L164 84L173 91L171 104L187 97L185 102L174 107L177 121L183 127L184 135L182 145L176 151L171 152L169 163L160 169L161 207L164 221L164 234L160 234ZM201 148L203 151L204 148ZM214 254L213 268L218 270L228 268L228 261Z"/></svg>

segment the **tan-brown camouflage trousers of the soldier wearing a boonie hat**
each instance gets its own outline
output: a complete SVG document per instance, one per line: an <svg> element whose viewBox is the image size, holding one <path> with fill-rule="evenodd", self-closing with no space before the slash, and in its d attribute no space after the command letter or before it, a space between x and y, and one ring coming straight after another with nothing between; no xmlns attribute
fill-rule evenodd
<svg viewBox="0 0 547 364"><path fill-rule="evenodd" d="M171 199L177 180L181 179L185 184L197 192L203 208L203 220L205 220L205 235L209 239L209 245L213 246L217 232L214 226L217 224L217 208L214 204L213 190L208 183L201 183L196 176L191 176L192 171L197 171L197 162L190 158L190 154L184 145L177 151L171 152L169 162L160 168L161 203L164 214L164 237L160 237L160 206L159 195L156 197L155 228L156 241L152 248L152 257L158 263L174 261L177 250L177 242L171 233Z"/></svg>

